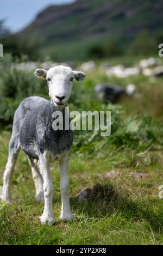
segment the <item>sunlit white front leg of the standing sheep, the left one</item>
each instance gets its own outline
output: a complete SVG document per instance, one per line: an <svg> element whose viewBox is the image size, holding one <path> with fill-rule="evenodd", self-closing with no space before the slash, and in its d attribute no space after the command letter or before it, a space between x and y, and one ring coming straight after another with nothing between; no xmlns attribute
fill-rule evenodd
<svg viewBox="0 0 163 256"><path fill-rule="evenodd" d="M51 173L49 168L49 157L45 152L43 155L39 157L40 160L40 173L43 179L43 193L45 199L45 206L43 210L43 214L40 217L42 224L51 225L55 222L53 216L53 208L52 208L52 198L53 198L53 183L51 179Z"/></svg>

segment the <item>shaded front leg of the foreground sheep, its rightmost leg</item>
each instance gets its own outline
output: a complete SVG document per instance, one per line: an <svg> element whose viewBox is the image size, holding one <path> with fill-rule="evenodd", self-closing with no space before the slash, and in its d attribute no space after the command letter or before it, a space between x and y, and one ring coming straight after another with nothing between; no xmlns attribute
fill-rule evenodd
<svg viewBox="0 0 163 256"><path fill-rule="evenodd" d="M74 216L70 209L70 188L68 181L68 153L62 157L59 162L60 166L60 191L61 191L61 200L62 208L60 219L62 221L72 221Z"/></svg>

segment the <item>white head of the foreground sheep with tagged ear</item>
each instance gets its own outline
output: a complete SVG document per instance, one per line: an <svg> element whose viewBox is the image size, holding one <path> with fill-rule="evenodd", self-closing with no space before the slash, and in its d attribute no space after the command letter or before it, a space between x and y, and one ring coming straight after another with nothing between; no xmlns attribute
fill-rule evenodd
<svg viewBox="0 0 163 256"><path fill-rule="evenodd" d="M49 96L58 108L64 108L70 98L73 80L85 79L83 72L73 71L67 66L55 66L48 71L36 69L34 74L41 79L47 80Z"/></svg>

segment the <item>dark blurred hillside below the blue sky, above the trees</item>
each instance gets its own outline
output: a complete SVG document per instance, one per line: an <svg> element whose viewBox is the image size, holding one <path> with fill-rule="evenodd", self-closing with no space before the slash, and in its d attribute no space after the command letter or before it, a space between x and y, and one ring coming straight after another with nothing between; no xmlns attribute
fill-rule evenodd
<svg viewBox="0 0 163 256"><path fill-rule="evenodd" d="M18 36L39 41L46 52L67 42L68 48L74 47L72 43L81 40L83 44L110 37L125 41L145 29L161 31L162 11L162 0L78 0L42 10Z"/></svg>

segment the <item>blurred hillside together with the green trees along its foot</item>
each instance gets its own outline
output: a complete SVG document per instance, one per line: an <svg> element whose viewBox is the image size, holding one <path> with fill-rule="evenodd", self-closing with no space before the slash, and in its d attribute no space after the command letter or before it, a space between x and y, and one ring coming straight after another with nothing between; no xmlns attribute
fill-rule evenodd
<svg viewBox="0 0 163 256"><path fill-rule="evenodd" d="M0 41L13 56L26 54L31 60L51 56L63 62L148 56L158 52L161 40L161 0L78 0L42 10L23 31L4 35Z"/></svg>

